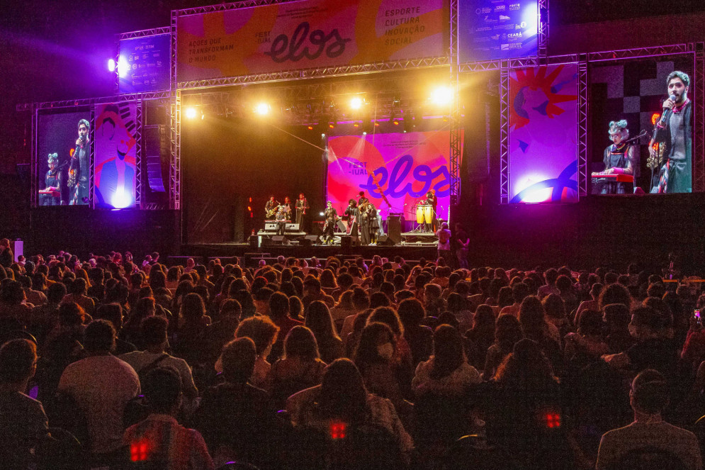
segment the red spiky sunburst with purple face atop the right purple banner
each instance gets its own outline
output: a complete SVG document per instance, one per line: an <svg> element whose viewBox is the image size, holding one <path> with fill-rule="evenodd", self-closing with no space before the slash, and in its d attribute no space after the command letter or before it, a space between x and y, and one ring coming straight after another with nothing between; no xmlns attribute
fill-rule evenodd
<svg viewBox="0 0 705 470"><path fill-rule="evenodd" d="M548 67L532 67L528 69L517 69L517 77L509 76L511 81L509 84L509 126L519 129L524 127L531 121L529 111L534 110L543 116L553 118L559 116L565 110L559 106L560 103L567 101L575 101L575 94L560 94L561 89L567 84L573 83L575 77L569 77L563 82L555 83L555 80L560 76L563 70L563 65L551 67L551 73L547 74ZM514 91L516 90L516 91ZM527 94L535 94L539 92L545 96L543 99L528 99ZM531 103L537 103L536 106L531 106Z"/></svg>

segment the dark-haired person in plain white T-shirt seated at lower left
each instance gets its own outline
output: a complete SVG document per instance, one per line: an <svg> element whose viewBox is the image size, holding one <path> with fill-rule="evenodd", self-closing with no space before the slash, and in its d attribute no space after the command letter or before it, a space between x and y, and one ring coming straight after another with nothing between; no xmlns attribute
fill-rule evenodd
<svg viewBox="0 0 705 470"><path fill-rule="evenodd" d="M84 347L88 357L67 366L58 391L72 396L86 417L91 452L108 454L120 448L125 405L140 393L140 378L130 364L111 355L115 328L107 320L86 327Z"/></svg>

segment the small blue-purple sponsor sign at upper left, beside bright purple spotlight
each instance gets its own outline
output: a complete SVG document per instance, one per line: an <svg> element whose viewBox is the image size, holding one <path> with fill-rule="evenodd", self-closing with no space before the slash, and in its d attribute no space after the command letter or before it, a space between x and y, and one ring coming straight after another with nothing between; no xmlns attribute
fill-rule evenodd
<svg viewBox="0 0 705 470"><path fill-rule="evenodd" d="M169 89L171 35L120 40L118 91L145 93Z"/></svg>

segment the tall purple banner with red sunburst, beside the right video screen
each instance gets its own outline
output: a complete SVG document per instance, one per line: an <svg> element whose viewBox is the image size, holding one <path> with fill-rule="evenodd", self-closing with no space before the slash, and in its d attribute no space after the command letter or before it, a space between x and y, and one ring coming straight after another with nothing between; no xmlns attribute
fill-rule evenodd
<svg viewBox="0 0 705 470"><path fill-rule="evenodd" d="M576 202L577 65L509 72L509 202Z"/></svg>

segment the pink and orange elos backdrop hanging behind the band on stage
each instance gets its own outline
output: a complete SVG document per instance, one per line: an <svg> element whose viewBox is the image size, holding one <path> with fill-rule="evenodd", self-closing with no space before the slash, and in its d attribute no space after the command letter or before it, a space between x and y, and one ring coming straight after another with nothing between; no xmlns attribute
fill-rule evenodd
<svg viewBox="0 0 705 470"><path fill-rule="evenodd" d="M328 200L339 214L365 191L383 218L416 217L414 206L434 191L436 212L448 220L451 174L448 130L346 135L328 140Z"/></svg>

